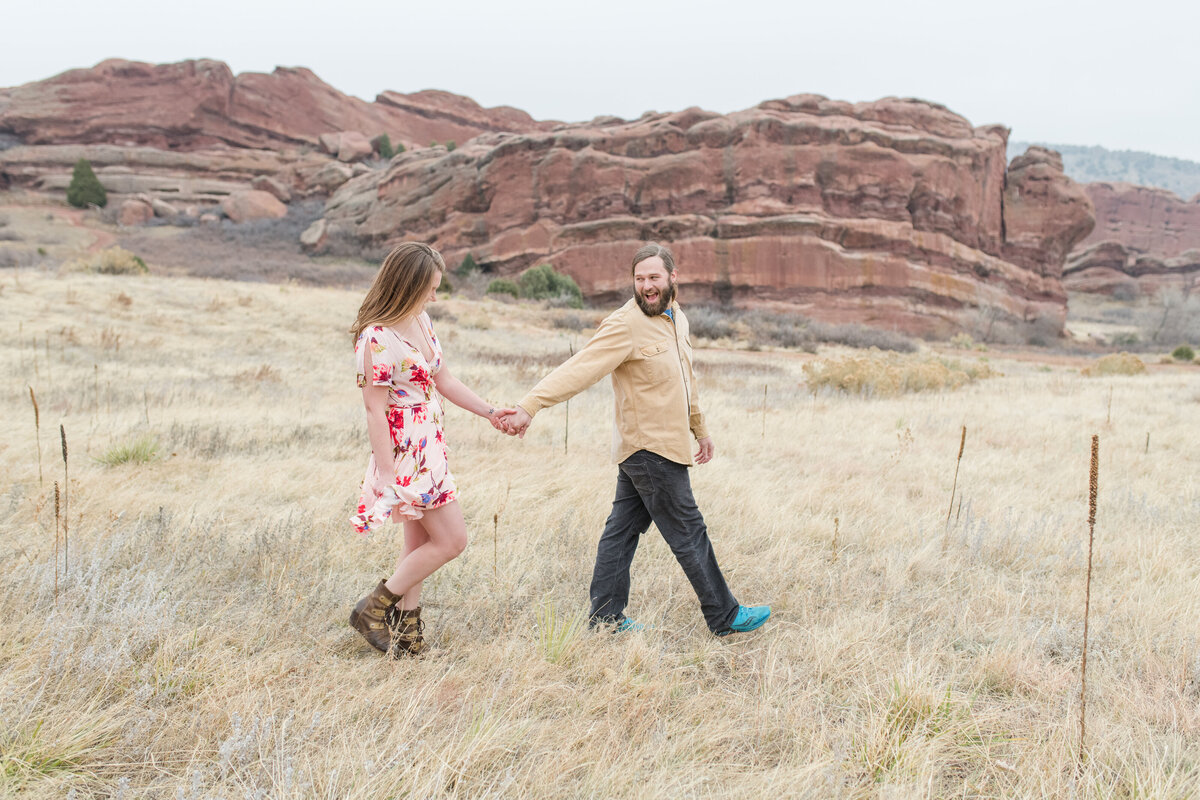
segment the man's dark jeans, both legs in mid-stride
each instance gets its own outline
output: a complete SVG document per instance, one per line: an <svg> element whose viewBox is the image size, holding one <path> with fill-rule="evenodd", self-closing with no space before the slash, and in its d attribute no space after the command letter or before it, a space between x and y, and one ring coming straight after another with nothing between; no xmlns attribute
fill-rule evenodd
<svg viewBox="0 0 1200 800"><path fill-rule="evenodd" d="M638 450L618 469L617 497L600 536L592 572L590 621L625 618L629 565L634 561L638 537L653 522L691 582L709 630L727 630L737 616L738 601L716 565L708 528L691 494L688 468L648 450Z"/></svg>

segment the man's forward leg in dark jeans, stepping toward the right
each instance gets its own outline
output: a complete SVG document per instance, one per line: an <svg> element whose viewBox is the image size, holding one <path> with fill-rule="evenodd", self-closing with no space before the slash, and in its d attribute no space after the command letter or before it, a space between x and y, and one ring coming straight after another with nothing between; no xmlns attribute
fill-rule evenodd
<svg viewBox="0 0 1200 800"><path fill-rule="evenodd" d="M622 471L629 475L659 533L691 582L708 628L714 633L728 631L738 613L738 601L716 565L704 517L691 493L688 468L658 453L640 450L622 464Z"/></svg>

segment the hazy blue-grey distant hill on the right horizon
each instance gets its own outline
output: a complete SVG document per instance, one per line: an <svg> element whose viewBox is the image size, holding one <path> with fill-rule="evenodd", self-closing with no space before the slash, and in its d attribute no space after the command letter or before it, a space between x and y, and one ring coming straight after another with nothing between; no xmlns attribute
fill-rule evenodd
<svg viewBox="0 0 1200 800"><path fill-rule="evenodd" d="M1157 186L1175 192L1184 200L1200 193L1200 163L1194 161L1138 150L1105 150L1045 142L1009 142L1008 160L1025 152L1031 144L1061 152L1063 172L1081 184L1124 181L1139 186Z"/></svg>

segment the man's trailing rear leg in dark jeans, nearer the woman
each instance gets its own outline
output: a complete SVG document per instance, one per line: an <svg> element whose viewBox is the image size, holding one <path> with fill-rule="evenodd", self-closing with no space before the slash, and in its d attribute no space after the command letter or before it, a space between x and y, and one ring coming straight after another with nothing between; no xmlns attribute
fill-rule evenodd
<svg viewBox="0 0 1200 800"><path fill-rule="evenodd" d="M629 565L637 552L637 540L650 527L650 512L642 504L634 483L618 467L617 495L596 546L592 570L592 615L589 624L619 622L629 603Z"/></svg>

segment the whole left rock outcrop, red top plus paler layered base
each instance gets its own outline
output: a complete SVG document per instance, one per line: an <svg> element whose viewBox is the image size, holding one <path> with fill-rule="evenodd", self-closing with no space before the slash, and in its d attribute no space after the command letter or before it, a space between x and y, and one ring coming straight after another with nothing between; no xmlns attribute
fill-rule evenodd
<svg viewBox="0 0 1200 800"><path fill-rule="evenodd" d="M209 210L250 188L288 203L366 172L368 134L412 148L552 125L440 91L367 103L304 68L234 76L221 61L113 59L0 89L0 187L59 192L86 158L118 204L146 194Z"/></svg>

